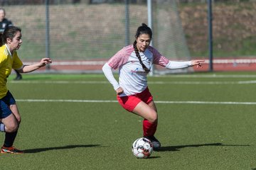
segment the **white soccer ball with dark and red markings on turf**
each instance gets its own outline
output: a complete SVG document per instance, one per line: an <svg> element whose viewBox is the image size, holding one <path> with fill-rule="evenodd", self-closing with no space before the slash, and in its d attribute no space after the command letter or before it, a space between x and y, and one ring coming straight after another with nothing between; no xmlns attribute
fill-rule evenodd
<svg viewBox="0 0 256 170"><path fill-rule="evenodd" d="M153 145L150 140L140 137L132 144L132 153L137 158L148 158L153 152Z"/></svg>

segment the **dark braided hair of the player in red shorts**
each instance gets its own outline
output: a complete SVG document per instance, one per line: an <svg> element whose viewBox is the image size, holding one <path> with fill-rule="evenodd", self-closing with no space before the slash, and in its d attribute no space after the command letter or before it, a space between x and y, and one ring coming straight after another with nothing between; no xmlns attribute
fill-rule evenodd
<svg viewBox="0 0 256 170"><path fill-rule="evenodd" d="M150 39L152 38L152 30L151 30L151 28L146 26L145 23L142 23L142 26L139 26L139 28L137 29L135 38L138 38L139 35L142 35L142 34L147 34L147 35L149 35ZM144 69L144 71L147 72L147 73L150 72L150 69L148 69L145 66L145 64L143 64L142 57L140 57L140 55L139 55L139 50L137 48L137 40L134 41L133 47L134 47L134 52L135 52L136 56L139 59L139 63L142 64L142 68Z"/></svg>

